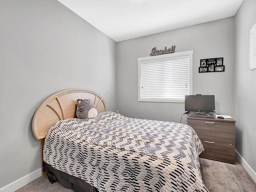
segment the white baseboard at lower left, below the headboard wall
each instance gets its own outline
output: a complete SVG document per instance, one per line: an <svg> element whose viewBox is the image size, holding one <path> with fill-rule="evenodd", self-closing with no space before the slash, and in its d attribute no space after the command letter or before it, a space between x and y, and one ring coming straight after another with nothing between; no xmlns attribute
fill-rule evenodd
<svg viewBox="0 0 256 192"><path fill-rule="evenodd" d="M9 185L4 186L3 188L0 188L0 192L13 192L20 187L23 187L24 185L27 185L31 181L37 179L38 177L41 176L41 168L38 168L34 172L10 183Z"/></svg>

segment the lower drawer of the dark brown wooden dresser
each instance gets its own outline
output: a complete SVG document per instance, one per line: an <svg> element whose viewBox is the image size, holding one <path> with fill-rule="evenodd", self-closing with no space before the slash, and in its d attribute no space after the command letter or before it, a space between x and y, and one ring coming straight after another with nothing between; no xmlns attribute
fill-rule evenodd
<svg viewBox="0 0 256 192"><path fill-rule="evenodd" d="M201 138L201 142L205 151L200 154L200 157L227 163L234 163L234 144L218 141L207 141L204 138Z"/></svg>

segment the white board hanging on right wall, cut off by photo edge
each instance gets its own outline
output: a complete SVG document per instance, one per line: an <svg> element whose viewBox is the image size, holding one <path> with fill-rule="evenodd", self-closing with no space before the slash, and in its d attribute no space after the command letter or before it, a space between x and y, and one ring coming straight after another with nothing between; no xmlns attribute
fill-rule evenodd
<svg viewBox="0 0 256 192"><path fill-rule="evenodd" d="M250 29L250 70L256 69L256 24Z"/></svg>

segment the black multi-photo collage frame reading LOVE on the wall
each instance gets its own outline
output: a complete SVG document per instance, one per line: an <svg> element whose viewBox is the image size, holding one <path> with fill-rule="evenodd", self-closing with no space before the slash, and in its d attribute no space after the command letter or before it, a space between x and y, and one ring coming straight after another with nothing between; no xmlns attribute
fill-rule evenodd
<svg viewBox="0 0 256 192"><path fill-rule="evenodd" d="M200 60L199 73L223 71L225 71L225 66L223 65L223 57Z"/></svg>

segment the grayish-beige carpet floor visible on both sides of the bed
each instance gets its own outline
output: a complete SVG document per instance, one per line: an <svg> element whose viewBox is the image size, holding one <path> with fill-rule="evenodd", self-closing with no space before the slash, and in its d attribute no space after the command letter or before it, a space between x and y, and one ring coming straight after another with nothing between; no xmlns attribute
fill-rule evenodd
<svg viewBox="0 0 256 192"><path fill-rule="evenodd" d="M200 159L202 178L210 192L255 192L256 184L240 162L236 164ZM16 192L71 192L58 183L51 184L47 177L39 177Z"/></svg>

